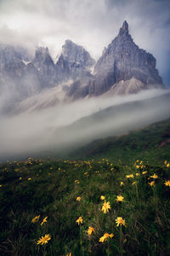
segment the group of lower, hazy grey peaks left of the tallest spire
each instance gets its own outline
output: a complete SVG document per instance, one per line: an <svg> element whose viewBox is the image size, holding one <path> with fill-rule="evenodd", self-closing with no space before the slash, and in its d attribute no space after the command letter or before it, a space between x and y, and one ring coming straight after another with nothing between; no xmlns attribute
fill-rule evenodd
<svg viewBox="0 0 170 256"><path fill-rule="evenodd" d="M66 83L60 89L66 91L68 80L91 77L89 68L94 62L87 50L70 40L65 41L56 64L47 47L38 47L31 60L26 50L0 44L0 96L6 95L8 105L13 108L13 103L35 96L45 88Z"/></svg>

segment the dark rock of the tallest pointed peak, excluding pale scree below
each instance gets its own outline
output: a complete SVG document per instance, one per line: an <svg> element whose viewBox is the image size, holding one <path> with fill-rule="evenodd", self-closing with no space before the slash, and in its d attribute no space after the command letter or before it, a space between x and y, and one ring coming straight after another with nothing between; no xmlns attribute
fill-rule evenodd
<svg viewBox="0 0 170 256"><path fill-rule="evenodd" d="M103 51L94 67L94 73L96 79L93 85L89 85L90 95L103 94L113 84L132 78L142 82L145 88L150 88L151 84L152 87L154 84L163 87L156 69L156 59L133 43L127 21L123 22L118 36Z"/></svg>

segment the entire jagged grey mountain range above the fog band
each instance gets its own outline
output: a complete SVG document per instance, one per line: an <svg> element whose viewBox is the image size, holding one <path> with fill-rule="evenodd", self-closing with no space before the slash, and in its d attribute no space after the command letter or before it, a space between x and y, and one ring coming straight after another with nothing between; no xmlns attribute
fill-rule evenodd
<svg viewBox="0 0 170 256"><path fill-rule="evenodd" d="M4 91L12 95L8 105L50 88L55 89L54 103L124 95L164 85L156 59L134 44L126 20L96 63L86 49L71 40L65 41L56 63L47 47L38 47L32 59L25 49L0 44L0 95Z"/></svg>

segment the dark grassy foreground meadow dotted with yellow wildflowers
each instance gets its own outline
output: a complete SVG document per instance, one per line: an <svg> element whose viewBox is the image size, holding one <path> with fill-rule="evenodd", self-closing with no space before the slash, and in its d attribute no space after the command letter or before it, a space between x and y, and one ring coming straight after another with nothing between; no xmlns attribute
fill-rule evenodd
<svg viewBox="0 0 170 256"><path fill-rule="evenodd" d="M0 255L170 255L170 165L38 160L0 166Z"/></svg>

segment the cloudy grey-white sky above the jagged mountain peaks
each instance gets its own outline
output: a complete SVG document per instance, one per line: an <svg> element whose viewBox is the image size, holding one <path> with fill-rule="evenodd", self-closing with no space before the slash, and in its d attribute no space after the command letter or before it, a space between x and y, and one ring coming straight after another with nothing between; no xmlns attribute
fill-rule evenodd
<svg viewBox="0 0 170 256"><path fill-rule="evenodd" d="M123 20L170 85L170 0L0 0L0 42L32 52L44 45L56 56L71 39L97 59Z"/></svg>

